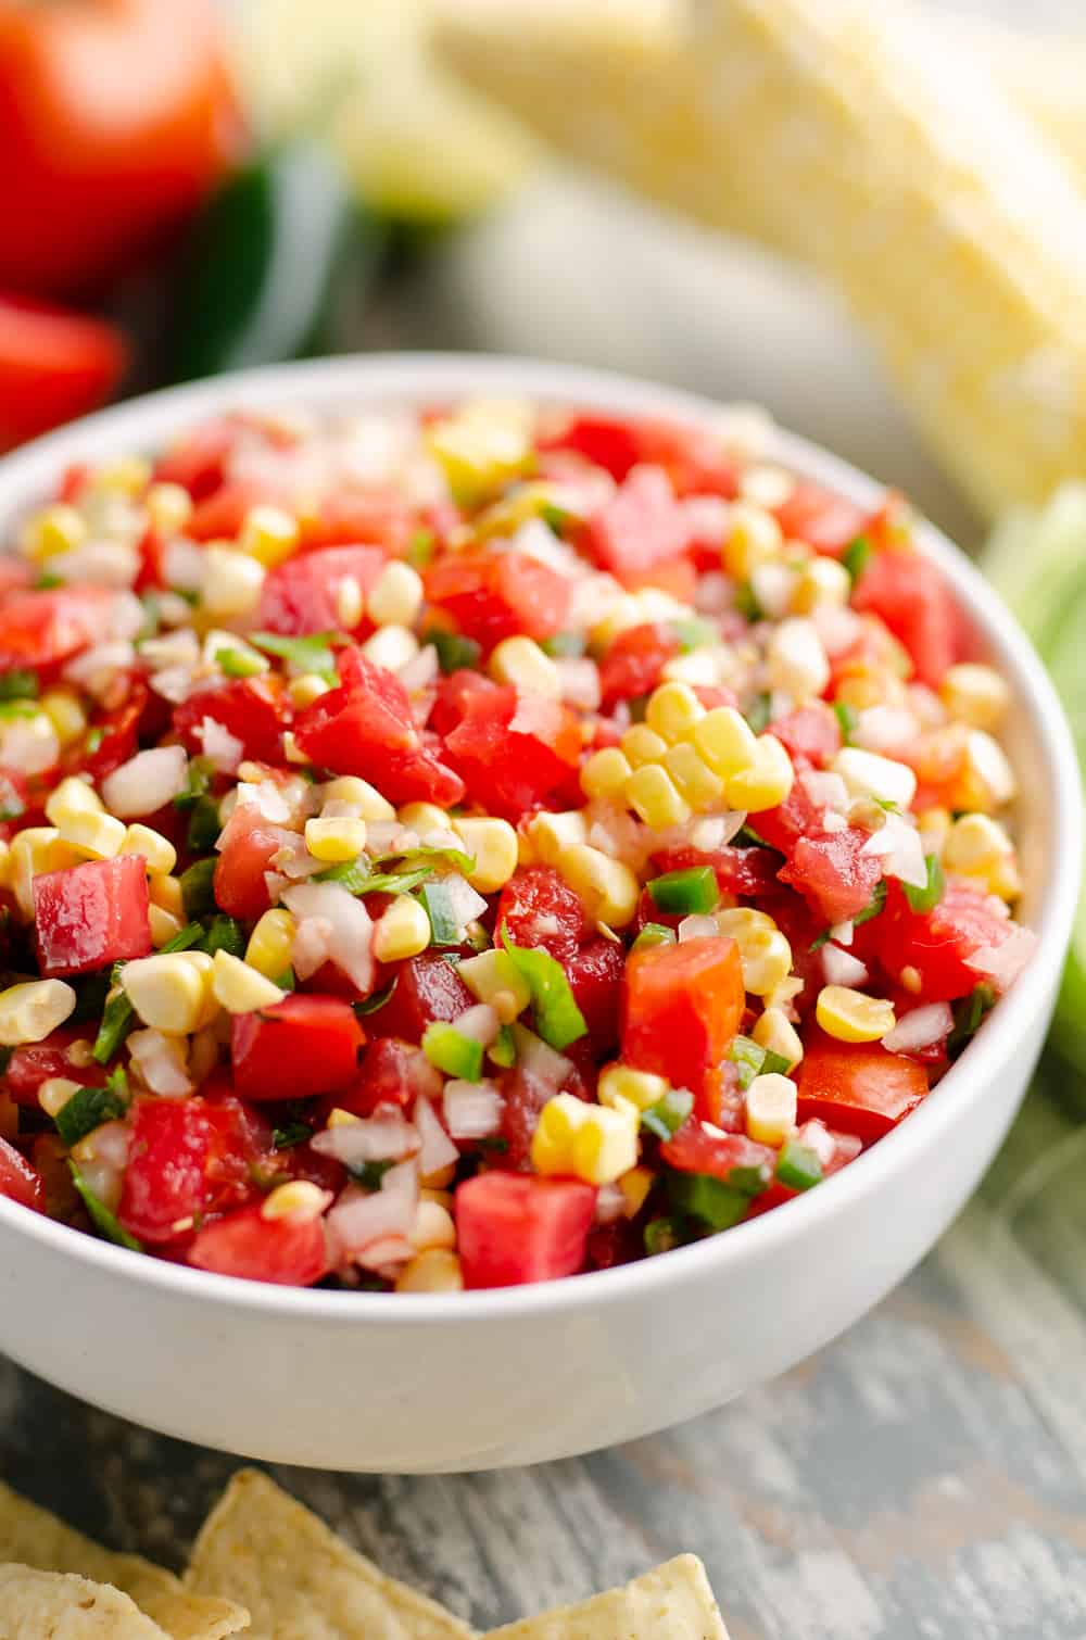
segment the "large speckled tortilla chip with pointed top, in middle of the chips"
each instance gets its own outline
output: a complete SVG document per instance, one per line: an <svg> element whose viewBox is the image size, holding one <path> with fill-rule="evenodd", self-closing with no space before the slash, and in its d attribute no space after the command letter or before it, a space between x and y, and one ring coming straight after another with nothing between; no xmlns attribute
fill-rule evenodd
<svg viewBox="0 0 1086 1640"><path fill-rule="evenodd" d="M468 1640L471 1629L386 1578L258 1469L240 1469L203 1524L185 1586L230 1594L249 1640Z"/></svg>

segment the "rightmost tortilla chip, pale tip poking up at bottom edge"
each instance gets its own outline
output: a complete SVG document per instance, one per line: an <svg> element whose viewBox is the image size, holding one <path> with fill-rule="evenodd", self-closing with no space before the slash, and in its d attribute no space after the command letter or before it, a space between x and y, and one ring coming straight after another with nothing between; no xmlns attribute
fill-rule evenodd
<svg viewBox="0 0 1086 1640"><path fill-rule="evenodd" d="M581 1606L492 1629L486 1640L728 1640L697 1555L678 1555L643 1578Z"/></svg>

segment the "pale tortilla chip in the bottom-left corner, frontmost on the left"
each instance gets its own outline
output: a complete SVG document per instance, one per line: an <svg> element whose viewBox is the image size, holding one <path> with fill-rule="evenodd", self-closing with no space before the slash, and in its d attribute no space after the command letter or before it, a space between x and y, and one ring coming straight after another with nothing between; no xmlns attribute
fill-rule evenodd
<svg viewBox="0 0 1086 1640"><path fill-rule="evenodd" d="M0 1640L169 1640L108 1583L38 1566L0 1566Z"/></svg>

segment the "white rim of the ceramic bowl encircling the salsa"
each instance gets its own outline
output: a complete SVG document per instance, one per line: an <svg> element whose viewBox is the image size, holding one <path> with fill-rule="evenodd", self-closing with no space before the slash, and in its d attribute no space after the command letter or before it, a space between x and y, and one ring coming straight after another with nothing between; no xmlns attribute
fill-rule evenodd
<svg viewBox="0 0 1086 1640"><path fill-rule="evenodd" d="M543 403L584 407L617 415L655 415L694 426L719 420L722 402L618 372L518 356L468 353L348 354L335 359L264 366L126 400L34 440L0 461L0 523L36 490L48 490L57 467L123 449L151 449L208 413L233 408L307 407L323 412L369 405L417 405L441 397L502 394ZM819 444L773 425L768 454L802 477L869 505L886 485ZM929 1146L960 1120L999 1068L1014 1056L1038 1010L1047 1007L1070 941L1083 858L1081 786L1071 733L1056 692L1030 641L994 589L947 536L927 522L917 528L920 549L947 572L955 595L971 613L992 659L1009 677L1047 769L1052 843L1048 874L1032 927L1037 951L984 1030L951 1066L937 1089L891 1133L828 1179L824 1189L783 1204L771 1214L735 1225L727 1235L615 1269L587 1271L520 1287L456 1294L351 1292L274 1286L236 1276L171 1264L133 1253L57 1223L0 1197L0 1230L26 1237L43 1250L69 1256L105 1279L207 1301L220 1309L261 1312L284 1320L331 1327L430 1327L449 1322L507 1322L579 1312L586 1307L640 1302L658 1289L681 1289L728 1269L773 1256L781 1241L802 1237L819 1220L843 1217L874 1196L891 1174L915 1164Z"/></svg>

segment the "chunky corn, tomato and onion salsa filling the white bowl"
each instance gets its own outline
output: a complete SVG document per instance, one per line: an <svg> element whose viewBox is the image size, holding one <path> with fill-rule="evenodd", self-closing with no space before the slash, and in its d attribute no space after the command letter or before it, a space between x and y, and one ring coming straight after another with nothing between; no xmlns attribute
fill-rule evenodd
<svg viewBox="0 0 1086 1640"><path fill-rule="evenodd" d="M0 1194L497 1287L848 1166L1029 961L1004 679L750 413L225 415L0 561Z"/></svg>

